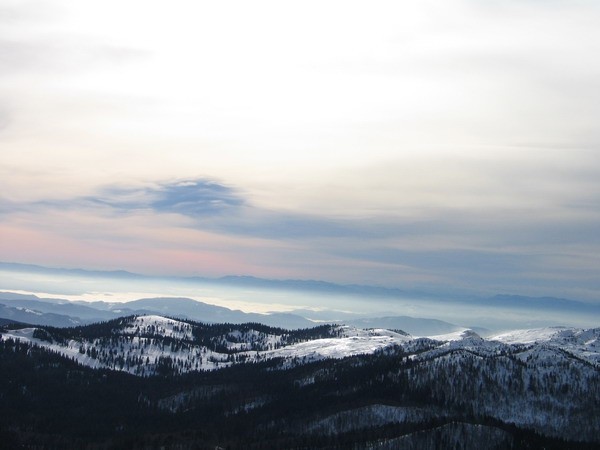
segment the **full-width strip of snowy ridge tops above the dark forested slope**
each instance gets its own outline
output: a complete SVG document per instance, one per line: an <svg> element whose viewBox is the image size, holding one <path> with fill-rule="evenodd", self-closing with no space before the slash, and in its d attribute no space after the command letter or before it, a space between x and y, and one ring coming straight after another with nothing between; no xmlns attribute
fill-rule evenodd
<svg viewBox="0 0 600 450"><path fill-rule="evenodd" d="M29 342L88 367L141 376L214 370L274 358L281 359L281 367L285 368L326 358L372 354L391 346L401 347L415 361L468 352L479 357L510 354L523 361L535 358L540 364L574 358L595 367L600 365L599 328L518 330L490 339L471 330L413 338L385 329L345 325L321 328L319 333L311 333L258 324L208 326L146 315L73 329L7 330L2 339Z"/></svg>

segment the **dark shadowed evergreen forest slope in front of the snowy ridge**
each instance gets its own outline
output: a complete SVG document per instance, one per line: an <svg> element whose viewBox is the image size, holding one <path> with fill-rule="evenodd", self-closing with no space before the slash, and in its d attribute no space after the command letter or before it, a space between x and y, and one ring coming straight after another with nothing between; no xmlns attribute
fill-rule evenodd
<svg viewBox="0 0 600 450"><path fill-rule="evenodd" d="M466 362L460 372L469 379L458 383L453 379L457 367L442 369L412 361L399 347L288 370L274 370L280 361L271 360L174 375L166 364L161 375L136 377L82 367L40 347L8 339L0 343L0 445L11 449L598 448L597 436L563 440L485 414L478 406L481 402L506 395L506 388L486 375L506 370L500 367L503 360L461 361ZM414 383L415 373L423 383ZM511 389L517 393L531 388L515 382ZM589 405L585 413L592 422L582 427L597 422L597 393L569 395L588 397L587 403L580 399L579 404ZM429 414L416 421L370 424L361 420L360 411L373 405L407 406ZM334 429L315 426L327 417L335 417Z"/></svg>

